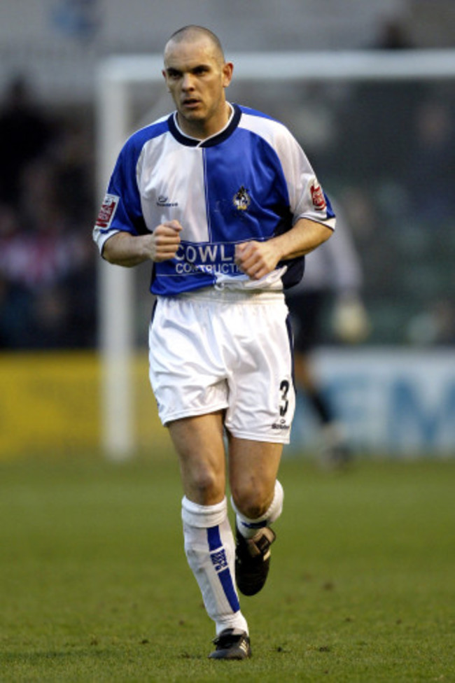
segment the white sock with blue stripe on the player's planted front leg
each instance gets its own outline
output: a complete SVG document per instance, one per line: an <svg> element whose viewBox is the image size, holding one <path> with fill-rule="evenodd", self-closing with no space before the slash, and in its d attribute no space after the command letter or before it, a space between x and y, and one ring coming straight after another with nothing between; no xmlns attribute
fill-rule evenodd
<svg viewBox="0 0 455 683"><path fill-rule="evenodd" d="M216 634L225 628L248 633L235 586L235 542L226 499L217 505L182 500L183 537L188 564L199 584Z"/></svg>

